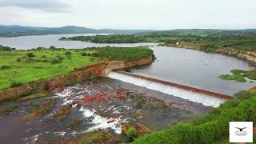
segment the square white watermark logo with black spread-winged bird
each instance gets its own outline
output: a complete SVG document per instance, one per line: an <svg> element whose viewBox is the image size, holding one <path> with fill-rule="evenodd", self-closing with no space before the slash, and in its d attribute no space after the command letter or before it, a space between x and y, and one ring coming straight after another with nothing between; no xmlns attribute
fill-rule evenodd
<svg viewBox="0 0 256 144"><path fill-rule="evenodd" d="M253 142L253 122L230 122L230 142Z"/></svg>

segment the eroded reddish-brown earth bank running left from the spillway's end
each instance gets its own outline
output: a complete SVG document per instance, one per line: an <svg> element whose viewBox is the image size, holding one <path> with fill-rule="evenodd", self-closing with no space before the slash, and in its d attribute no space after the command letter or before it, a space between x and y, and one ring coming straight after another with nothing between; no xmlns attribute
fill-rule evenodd
<svg viewBox="0 0 256 144"><path fill-rule="evenodd" d="M153 56L142 58L136 62L110 61L101 62L95 65L86 66L70 74L64 74L55 78L42 79L36 82L29 82L22 86L13 87L0 91L0 101L22 97L38 90L55 90L59 87L72 86L77 82L86 81L90 78L105 77L111 70L125 69L133 66L141 66L153 62Z"/></svg>

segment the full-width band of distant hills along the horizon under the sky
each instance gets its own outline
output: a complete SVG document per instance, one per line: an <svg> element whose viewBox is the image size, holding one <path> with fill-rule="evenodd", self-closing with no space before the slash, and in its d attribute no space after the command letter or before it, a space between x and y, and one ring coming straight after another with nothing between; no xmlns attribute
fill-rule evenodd
<svg viewBox="0 0 256 144"><path fill-rule="evenodd" d="M256 34L256 29L245 30L214 30L214 29L176 29L176 30L114 30L91 29L82 26L63 27L33 27L0 25L0 37L43 34L166 34L166 35L197 35L197 36L226 36L241 34Z"/></svg>

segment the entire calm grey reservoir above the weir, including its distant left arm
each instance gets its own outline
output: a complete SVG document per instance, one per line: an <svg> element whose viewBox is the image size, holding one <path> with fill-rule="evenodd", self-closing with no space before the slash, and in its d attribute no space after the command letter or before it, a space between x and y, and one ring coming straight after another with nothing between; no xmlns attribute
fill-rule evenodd
<svg viewBox="0 0 256 144"><path fill-rule="evenodd" d="M223 94L234 94L238 90L247 90L255 86L255 82L232 82L218 78L219 74L230 74L230 70L253 70L254 67L237 58L221 54L206 54L197 50L177 49L156 44L95 44L91 42L58 41L61 37L95 34L53 34L41 36L23 36L0 38L0 45L17 49L43 47L84 48L91 46L150 46L158 60L150 66L132 70L134 73L161 78L170 82L194 86L205 90L213 90Z"/></svg>

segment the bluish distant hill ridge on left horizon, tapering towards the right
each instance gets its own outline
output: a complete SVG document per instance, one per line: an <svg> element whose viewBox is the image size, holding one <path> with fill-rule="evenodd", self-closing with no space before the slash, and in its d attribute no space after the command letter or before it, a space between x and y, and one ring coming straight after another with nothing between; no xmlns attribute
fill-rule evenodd
<svg viewBox="0 0 256 144"><path fill-rule="evenodd" d="M155 30L113 30L113 29L90 29L82 26L63 27L33 27L33 26L6 26L0 25L0 36L13 37L21 35L42 34L106 34L106 33L140 33Z"/></svg>

